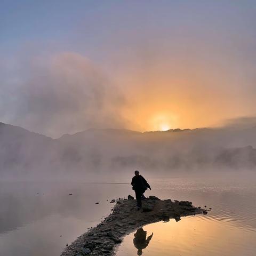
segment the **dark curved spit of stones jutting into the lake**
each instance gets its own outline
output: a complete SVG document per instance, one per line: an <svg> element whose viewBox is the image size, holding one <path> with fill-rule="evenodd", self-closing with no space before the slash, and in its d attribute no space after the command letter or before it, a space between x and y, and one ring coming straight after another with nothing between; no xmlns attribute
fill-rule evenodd
<svg viewBox="0 0 256 256"><path fill-rule="evenodd" d="M142 201L142 209L138 211L136 201L132 196L129 198L118 199L113 212L67 246L61 256L114 255L123 237L142 226L161 220L169 221L170 218L179 221L183 216L207 213L188 201L172 202L171 199L160 200L155 196Z"/></svg>

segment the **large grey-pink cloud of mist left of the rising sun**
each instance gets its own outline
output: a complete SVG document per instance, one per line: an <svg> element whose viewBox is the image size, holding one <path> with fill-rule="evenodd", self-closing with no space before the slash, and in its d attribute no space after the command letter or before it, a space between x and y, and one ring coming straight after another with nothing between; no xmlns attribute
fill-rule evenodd
<svg viewBox="0 0 256 256"><path fill-rule="evenodd" d="M23 59L8 73L0 92L2 121L52 137L124 126L121 91L80 54Z"/></svg>

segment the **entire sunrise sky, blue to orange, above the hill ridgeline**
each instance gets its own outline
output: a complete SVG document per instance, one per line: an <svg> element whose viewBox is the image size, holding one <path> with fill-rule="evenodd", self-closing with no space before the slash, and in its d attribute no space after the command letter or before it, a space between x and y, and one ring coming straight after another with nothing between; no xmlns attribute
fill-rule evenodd
<svg viewBox="0 0 256 256"><path fill-rule="evenodd" d="M0 121L91 128L254 117L255 1L0 1Z"/></svg>

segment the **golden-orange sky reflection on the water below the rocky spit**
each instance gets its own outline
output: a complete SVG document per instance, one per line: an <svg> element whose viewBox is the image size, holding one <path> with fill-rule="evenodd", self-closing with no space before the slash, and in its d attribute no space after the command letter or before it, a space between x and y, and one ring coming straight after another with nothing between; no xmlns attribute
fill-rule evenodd
<svg viewBox="0 0 256 256"><path fill-rule="evenodd" d="M134 238L142 230L138 246ZM126 236L116 255L256 255L256 232L228 221L193 216L181 218L179 222L171 219L149 224L142 230Z"/></svg>

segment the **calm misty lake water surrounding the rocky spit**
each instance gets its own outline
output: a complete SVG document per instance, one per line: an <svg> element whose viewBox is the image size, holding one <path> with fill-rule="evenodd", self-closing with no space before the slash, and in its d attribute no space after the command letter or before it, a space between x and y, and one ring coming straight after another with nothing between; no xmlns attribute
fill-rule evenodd
<svg viewBox="0 0 256 256"><path fill-rule="evenodd" d="M135 232L126 236L117 256L135 256L138 249L142 255L256 255L254 177L149 181L153 190L147 196L189 200L212 211L146 225L144 241L134 241ZM0 255L59 255L110 213L113 205L107 200L131 193L129 185L1 183Z"/></svg>

